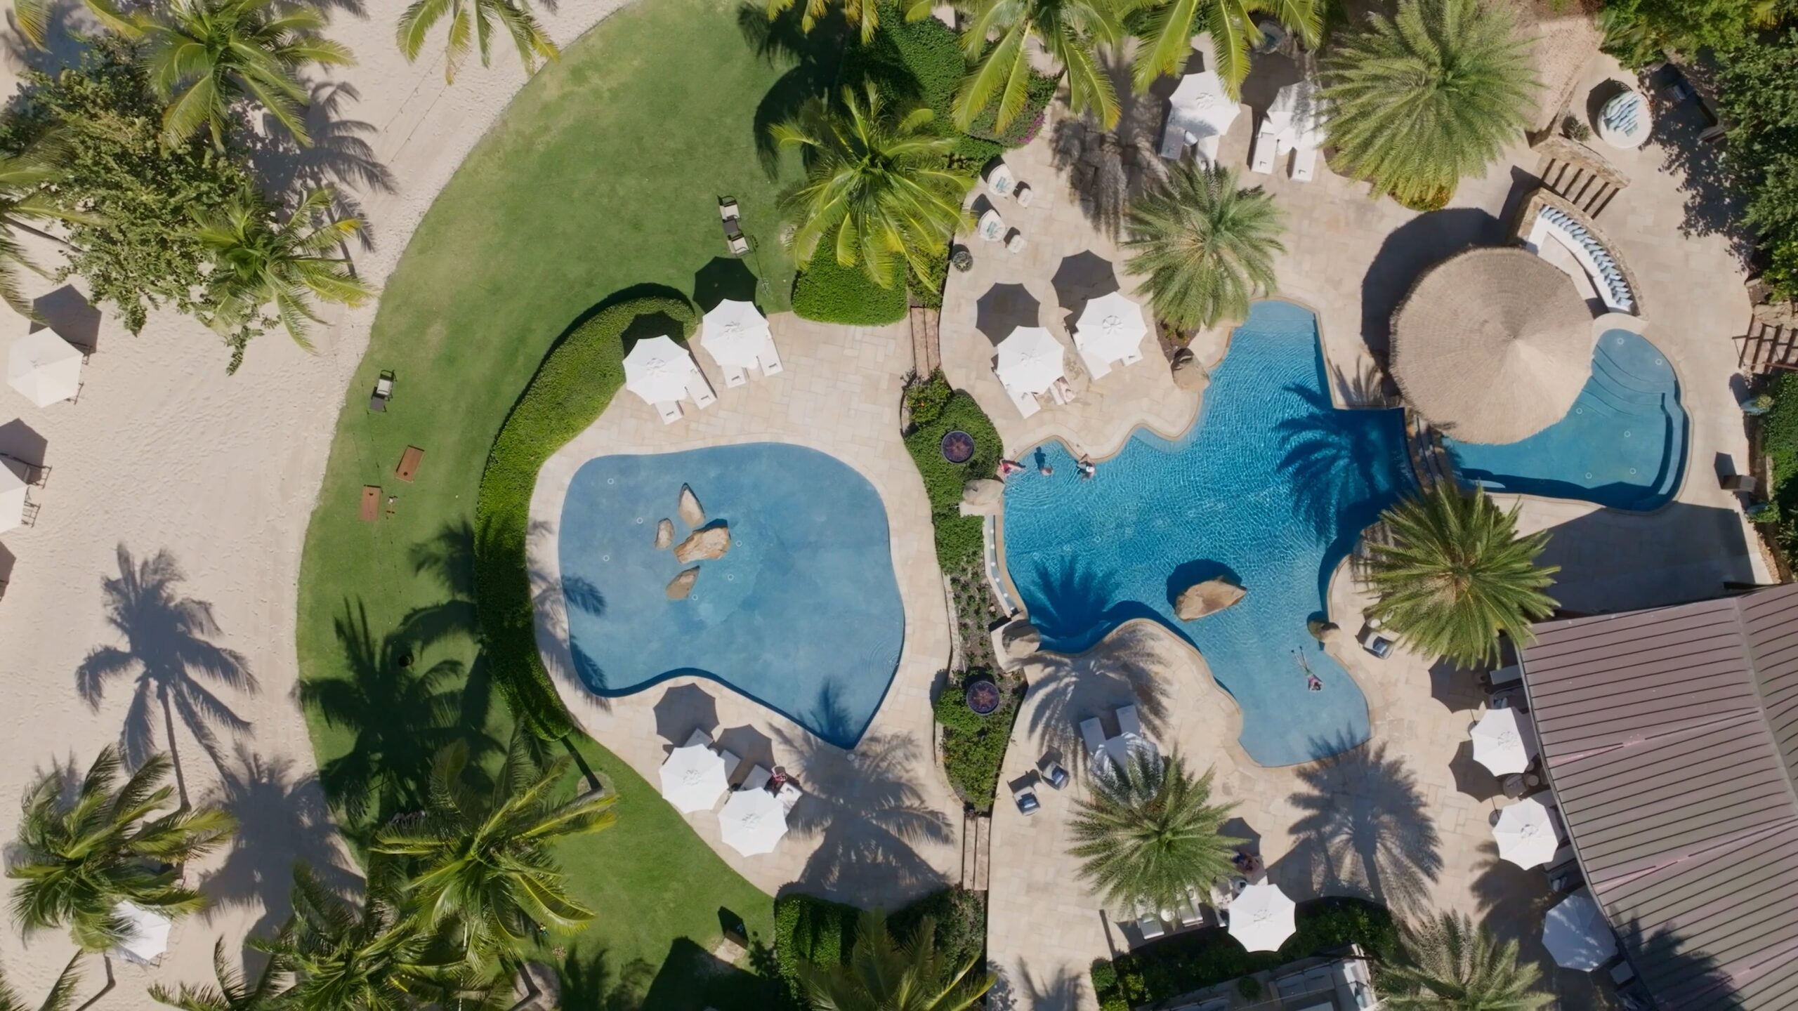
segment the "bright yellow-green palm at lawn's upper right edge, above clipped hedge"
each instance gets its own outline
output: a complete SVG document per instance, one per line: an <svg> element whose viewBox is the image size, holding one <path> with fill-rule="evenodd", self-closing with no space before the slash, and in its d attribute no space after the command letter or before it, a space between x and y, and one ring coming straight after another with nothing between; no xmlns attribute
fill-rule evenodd
<svg viewBox="0 0 1798 1011"><path fill-rule="evenodd" d="M966 219L962 196L973 182L942 167L955 139L931 119L928 108L888 106L868 83L843 88L840 108L811 99L798 119L771 128L777 144L806 158L806 182L780 196L800 263L811 263L822 239L836 263L859 263L881 288L899 281L897 261L930 275Z"/></svg>

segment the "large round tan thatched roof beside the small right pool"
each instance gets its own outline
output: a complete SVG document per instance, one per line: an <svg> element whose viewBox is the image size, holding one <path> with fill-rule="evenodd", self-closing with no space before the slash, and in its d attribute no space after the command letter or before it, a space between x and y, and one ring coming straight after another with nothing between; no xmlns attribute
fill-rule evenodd
<svg viewBox="0 0 1798 1011"><path fill-rule="evenodd" d="M1597 333L1573 281L1521 248L1429 268L1392 318L1392 378L1462 443L1516 443L1573 407Z"/></svg>

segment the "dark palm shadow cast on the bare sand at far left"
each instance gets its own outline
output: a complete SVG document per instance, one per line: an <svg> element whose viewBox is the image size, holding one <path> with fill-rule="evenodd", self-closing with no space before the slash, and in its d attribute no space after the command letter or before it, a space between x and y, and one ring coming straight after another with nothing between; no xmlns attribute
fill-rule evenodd
<svg viewBox="0 0 1798 1011"><path fill-rule="evenodd" d="M137 687L119 738L120 754L135 768L156 752L151 711L160 705L162 732L185 804L187 784L173 739L176 714L223 772L218 730L241 734L250 721L237 716L207 682L246 693L255 693L259 685L243 653L212 642L221 635L212 604L180 595L183 576L173 554L158 550L138 561L120 543L117 558L119 576L102 577L101 590L106 624L124 637L124 646L90 649L76 667L76 691L88 707L99 709L106 684L135 671Z"/></svg>

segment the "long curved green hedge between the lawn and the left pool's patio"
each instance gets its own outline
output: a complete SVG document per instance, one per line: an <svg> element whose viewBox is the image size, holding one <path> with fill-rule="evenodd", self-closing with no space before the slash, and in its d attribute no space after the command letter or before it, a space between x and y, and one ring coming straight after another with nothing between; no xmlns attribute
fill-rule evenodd
<svg viewBox="0 0 1798 1011"><path fill-rule="evenodd" d="M687 299L649 297L601 308L561 336L518 396L487 453L475 500L475 612L494 684L532 732L559 739L574 720L538 657L525 531L543 461L599 417L624 385L624 331L638 317L667 315L692 335Z"/></svg>

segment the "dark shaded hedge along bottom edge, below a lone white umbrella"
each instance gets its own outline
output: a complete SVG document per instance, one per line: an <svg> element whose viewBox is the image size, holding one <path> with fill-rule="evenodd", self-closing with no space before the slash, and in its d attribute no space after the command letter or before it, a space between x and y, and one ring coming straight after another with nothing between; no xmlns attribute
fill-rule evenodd
<svg viewBox="0 0 1798 1011"><path fill-rule="evenodd" d="M1271 971L1287 962L1361 944L1375 961L1399 946L1399 928L1386 907L1350 898L1298 903L1298 930L1278 952L1248 952L1223 926L1176 934L1117 959L1097 959L1093 993L1100 1007L1135 1007Z"/></svg>

